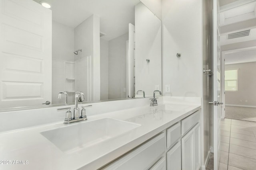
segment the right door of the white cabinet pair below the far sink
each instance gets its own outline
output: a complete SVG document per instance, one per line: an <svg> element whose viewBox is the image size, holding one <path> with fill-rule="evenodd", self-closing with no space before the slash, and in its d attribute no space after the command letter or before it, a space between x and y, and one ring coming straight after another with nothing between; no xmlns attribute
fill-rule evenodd
<svg viewBox="0 0 256 170"><path fill-rule="evenodd" d="M199 170L200 163L200 124L198 123L194 128L194 170Z"/></svg>

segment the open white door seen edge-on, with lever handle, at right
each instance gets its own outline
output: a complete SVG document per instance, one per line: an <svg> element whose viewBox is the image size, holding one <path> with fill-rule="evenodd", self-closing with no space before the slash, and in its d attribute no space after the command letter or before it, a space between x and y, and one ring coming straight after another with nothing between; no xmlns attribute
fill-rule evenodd
<svg viewBox="0 0 256 170"><path fill-rule="evenodd" d="M214 170L220 163L220 120L221 120L221 74L220 74L220 6L218 0L213 0L213 149Z"/></svg>

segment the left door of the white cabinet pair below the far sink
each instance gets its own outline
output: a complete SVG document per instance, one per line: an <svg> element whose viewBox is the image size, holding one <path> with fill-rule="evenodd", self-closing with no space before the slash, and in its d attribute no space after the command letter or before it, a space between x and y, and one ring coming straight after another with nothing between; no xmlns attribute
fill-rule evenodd
<svg viewBox="0 0 256 170"><path fill-rule="evenodd" d="M194 130L190 130L182 139L182 170L194 170Z"/></svg>

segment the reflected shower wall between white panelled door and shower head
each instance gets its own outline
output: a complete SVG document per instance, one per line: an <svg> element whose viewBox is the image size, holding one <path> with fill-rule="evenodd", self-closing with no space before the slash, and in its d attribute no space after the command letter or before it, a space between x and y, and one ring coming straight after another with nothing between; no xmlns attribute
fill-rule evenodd
<svg viewBox="0 0 256 170"><path fill-rule="evenodd" d="M74 29L52 21L52 104L64 103L64 96L58 93L69 90L65 87L64 61L74 61ZM74 94L68 93L68 102L74 102Z"/></svg>

